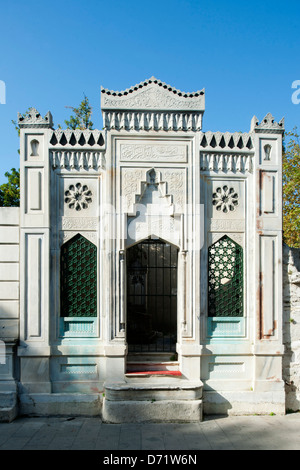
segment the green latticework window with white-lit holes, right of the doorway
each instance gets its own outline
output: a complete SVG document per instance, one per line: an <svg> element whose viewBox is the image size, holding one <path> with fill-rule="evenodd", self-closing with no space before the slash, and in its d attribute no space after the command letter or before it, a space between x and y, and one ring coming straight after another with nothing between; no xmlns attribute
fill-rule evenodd
<svg viewBox="0 0 300 470"><path fill-rule="evenodd" d="M243 316L243 249L226 235L208 249L208 316Z"/></svg>

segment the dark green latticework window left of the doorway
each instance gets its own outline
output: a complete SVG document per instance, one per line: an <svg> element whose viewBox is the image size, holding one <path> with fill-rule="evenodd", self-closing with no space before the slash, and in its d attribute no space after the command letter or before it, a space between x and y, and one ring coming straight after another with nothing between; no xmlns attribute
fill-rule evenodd
<svg viewBox="0 0 300 470"><path fill-rule="evenodd" d="M61 248L61 316L97 316L97 248L76 235Z"/></svg>

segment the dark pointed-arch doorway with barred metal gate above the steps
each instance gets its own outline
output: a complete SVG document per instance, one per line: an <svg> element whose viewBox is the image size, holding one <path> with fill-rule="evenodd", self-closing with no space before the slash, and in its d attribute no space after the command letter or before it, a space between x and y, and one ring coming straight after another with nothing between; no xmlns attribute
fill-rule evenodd
<svg viewBox="0 0 300 470"><path fill-rule="evenodd" d="M177 342L176 246L147 239L127 250L129 353L175 352Z"/></svg>

